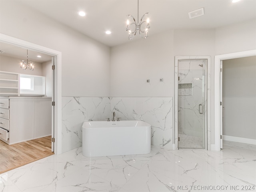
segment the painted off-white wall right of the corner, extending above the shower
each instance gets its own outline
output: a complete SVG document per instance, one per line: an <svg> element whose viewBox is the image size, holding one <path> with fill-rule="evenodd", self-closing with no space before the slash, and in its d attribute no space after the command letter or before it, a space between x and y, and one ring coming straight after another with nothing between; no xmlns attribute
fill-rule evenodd
<svg viewBox="0 0 256 192"><path fill-rule="evenodd" d="M255 20L250 20L217 29L170 30L115 46L111 48L110 94L174 97L174 56L211 56L210 116L214 144L214 56L256 49L255 34ZM228 44L236 40L235 46ZM158 80L161 77L162 83Z"/></svg>

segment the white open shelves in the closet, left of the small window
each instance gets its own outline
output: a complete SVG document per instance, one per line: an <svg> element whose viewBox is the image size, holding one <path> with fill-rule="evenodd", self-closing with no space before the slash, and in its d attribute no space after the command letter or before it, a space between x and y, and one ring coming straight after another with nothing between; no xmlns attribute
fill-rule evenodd
<svg viewBox="0 0 256 192"><path fill-rule="evenodd" d="M18 96L19 91L19 74L0 71L0 95Z"/></svg>

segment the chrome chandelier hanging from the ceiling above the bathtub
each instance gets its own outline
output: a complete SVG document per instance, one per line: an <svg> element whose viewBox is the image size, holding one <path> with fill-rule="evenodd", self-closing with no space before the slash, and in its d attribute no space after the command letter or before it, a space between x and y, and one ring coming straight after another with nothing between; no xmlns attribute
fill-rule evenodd
<svg viewBox="0 0 256 192"><path fill-rule="evenodd" d="M126 31L128 32L129 36L128 39L131 40L138 31L142 38L146 39L148 37L148 29L150 28L149 25L149 18L143 20L146 15L149 13L145 13L139 22L139 0L138 0L138 23L136 23L135 18L132 15L127 15L128 17L132 18L132 23L130 23L129 19L127 19L126 24Z"/></svg>

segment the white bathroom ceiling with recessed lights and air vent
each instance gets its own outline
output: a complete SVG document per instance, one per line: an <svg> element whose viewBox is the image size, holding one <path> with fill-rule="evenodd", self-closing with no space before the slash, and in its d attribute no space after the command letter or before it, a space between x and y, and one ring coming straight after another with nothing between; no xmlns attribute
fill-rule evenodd
<svg viewBox="0 0 256 192"><path fill-rule="evenodd" d="M126 15L137 20L137 0L20 0L50 18L108 46L128 42ZM204 16L188 12L204 7ZM86 12L85 17L78 11ZM256 18L256 0L140 0L139 19L150 12L149 37L169 29L212 29ZM105 31L112 34L106 35ZM137 34L136 39L140 38Z"/></svg>

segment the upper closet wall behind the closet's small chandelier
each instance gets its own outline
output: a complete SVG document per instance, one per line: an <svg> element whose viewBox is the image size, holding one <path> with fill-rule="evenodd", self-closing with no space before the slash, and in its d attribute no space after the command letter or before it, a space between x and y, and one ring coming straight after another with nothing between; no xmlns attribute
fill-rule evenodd
<svg viewBox="0 0 256 192"><path fill-rule="evenodd" d="M0 55L0 71L42 76L42 63L33 62L35 64L34 71L29 69L23 70L20 68L20 60L22 60L22 58Z"/></svg>

